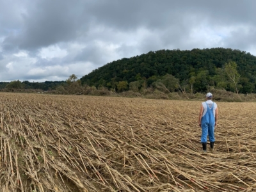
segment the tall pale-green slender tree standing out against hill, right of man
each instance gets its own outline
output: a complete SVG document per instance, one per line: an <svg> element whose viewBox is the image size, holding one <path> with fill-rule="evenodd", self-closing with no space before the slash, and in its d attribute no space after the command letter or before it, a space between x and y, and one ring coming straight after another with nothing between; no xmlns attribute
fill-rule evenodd
<svg viewBox="0 0 256 192"><path fill-rule="evenodd" d="M236 93L238 94L237 84L238 84L239 78L241 76L237 72L236 68L237 68L237 64L234 61L230 61L228 63L225 63L225 66L224 66L224 70L227 74L227 77L232 82L232 84L234 85Z"/></svg>

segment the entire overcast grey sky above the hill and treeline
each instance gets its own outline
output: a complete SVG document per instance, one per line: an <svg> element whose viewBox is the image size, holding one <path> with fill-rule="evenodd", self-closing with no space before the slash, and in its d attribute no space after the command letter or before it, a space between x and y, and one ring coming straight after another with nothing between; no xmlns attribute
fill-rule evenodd
<svg viewBox="0 0 256 192"><path fill-rule="evenodd" d="M0 0L0 81L62 81L159 49L256 56L255 0Z"/></svg>

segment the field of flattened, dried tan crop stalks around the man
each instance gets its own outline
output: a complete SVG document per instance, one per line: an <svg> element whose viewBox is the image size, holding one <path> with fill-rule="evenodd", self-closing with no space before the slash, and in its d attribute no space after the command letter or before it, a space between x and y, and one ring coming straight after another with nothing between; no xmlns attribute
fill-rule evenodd
<svg viewBox="0 0 256 192"><path fill-rule="evenodd" d="M204 98L202 98L204 101ZM253 191L256 103L0 93L0 191Z"/></svg>

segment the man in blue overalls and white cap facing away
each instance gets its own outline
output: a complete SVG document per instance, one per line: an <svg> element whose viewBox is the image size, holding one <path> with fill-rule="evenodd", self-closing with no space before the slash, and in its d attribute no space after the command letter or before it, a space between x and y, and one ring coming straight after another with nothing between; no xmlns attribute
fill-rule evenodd
<svg viewBox="0 0 256 192"><path fill-rule="evenodd" d="M201 143L203 145L203 151L207 152L207 136L211 143L211 151L214 148L214 128L217 126L218 120L218 106L215 102L212 102L212 93L206 94L206 101L202 102L200 107L200 113L198 118L199 127L202 128Z"/></svg>

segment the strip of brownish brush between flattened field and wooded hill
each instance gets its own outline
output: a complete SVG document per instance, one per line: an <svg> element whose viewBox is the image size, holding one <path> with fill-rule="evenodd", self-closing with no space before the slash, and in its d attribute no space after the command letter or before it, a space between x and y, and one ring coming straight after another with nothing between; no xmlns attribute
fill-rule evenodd
<svg viewBox="0 0 256 192"><path fill-rule="evenodd" d="M55 90L43 91L35 89L17 89L17 88L4 88L0 92L11 93L43 93L54 95L92 95L92 96L111 96L111 97L129 97L129 98L146 98L146 99L171 99L171 100L201 100L205 97L205 93L187 93L182 92L162 92L154 88L143 88L140 91L125 91L116 92L115 89L108 90L107 88L95 88L95 86L81 86L79 82L74 82L66 86L58 86ZM250 102L256 101L256 94L237 94L227 92L226 90L209 88L207 92L212 92L214 99L223 102Z"/></svg>

